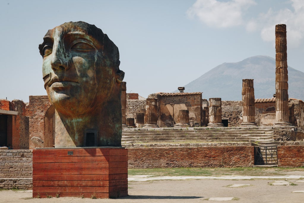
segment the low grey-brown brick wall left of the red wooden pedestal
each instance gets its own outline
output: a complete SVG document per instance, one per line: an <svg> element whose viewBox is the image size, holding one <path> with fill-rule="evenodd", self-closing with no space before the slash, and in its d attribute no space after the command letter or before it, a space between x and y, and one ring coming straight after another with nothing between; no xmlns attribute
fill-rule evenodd
<svg viewBox="0 0 304 203"><path fill-rule="evenodd" d="M0 188L31 189L32 150L0 150Z"/></svg>

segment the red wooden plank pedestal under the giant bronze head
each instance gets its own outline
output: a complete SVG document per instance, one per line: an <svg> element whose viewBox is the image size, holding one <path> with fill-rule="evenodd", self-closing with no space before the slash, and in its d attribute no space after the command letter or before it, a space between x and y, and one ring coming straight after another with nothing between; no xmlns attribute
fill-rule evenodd
<svg viewBox="0 0 304 203"><path fill-rule="evenodd" d="M33 150L33 197L116 198L128 195L123 148Z"/></svg>

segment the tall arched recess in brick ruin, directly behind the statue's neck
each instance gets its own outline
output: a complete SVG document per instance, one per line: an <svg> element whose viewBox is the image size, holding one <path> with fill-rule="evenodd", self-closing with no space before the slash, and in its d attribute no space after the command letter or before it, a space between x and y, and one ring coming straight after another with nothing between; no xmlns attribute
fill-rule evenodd
<svg viewBox="0 0 304 203"><path fill-rule="evenodd" d="M55 108L50 106L44 116L44 147L53 147L55 144Z"/></svg>

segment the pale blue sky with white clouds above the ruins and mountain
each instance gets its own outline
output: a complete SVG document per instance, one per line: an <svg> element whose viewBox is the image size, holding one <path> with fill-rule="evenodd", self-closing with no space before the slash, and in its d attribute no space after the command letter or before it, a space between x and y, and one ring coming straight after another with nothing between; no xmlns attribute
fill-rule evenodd
<svg viewBox="0 0 304 203"><path fill-rule="evenodd" d="M275 58L281 23L288 65L304 72L302 0L1 0L0 98L46 95L38 44L47 30L79 20L108 34L119 48L127 93L143 97L172 92L224 62Z"/></svg>

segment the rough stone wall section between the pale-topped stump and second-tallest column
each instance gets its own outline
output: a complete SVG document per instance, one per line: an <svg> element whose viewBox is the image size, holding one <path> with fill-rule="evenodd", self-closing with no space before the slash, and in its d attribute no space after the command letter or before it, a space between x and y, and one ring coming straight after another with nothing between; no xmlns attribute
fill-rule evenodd
<svg viewBox="0 0 304 203"><path fill-rule="evenodd" d="M228 119L228 127L240 126L242 111L242 101L222 101L222 119Z"/></svg>

